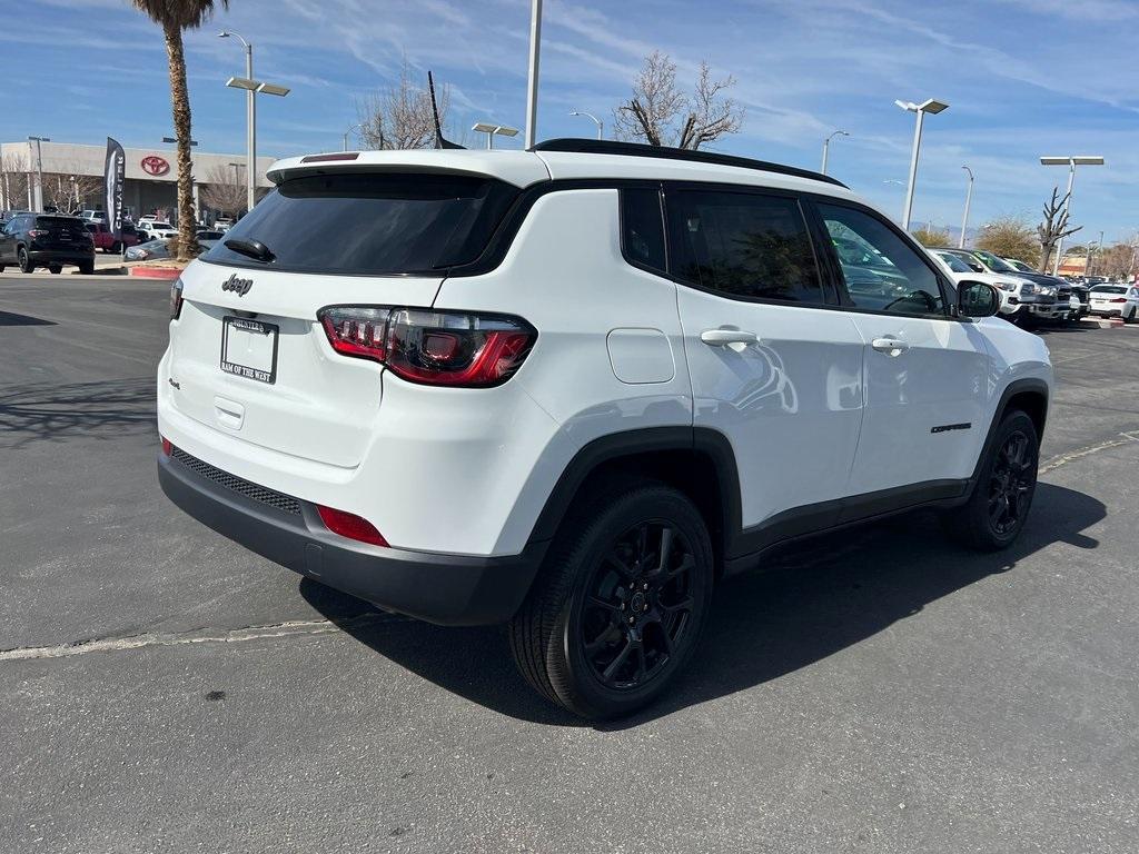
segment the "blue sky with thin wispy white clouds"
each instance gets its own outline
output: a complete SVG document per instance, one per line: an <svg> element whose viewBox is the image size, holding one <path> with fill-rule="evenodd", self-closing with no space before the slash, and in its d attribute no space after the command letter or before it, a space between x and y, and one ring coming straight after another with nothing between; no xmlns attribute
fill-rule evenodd
<svg viewBox="0 0 1139 854"><path fill-rule="evenodd" d="M220 3L219 3L220 6ZM528 0L231 0L186 38L199 150L244 153L244 54L292 88L259 98L259 154L338 150L357 105L427 69L451 92L451 136L477 121L525 124ZM913 220L956 231L968 164L970 227L1035 223L1067 180L1041 155L1104 155L1076 174L1073 222L1139 230L1139 0L546 0L538 138L591 137L629 97L644 57L666 52L690 88L700 60L735 76L739 133L710 147L829 172L900 217L913 114L926 120ZM0 28L0 141L28 134L162 150L172 132L162 33L128 0L22 0ZM472 143L482 137L467 132ZM519 136L513 143L521 146ZM353 143L354 145L354 143ZM1079 238L1077 238L1079 239Z"/></svg>

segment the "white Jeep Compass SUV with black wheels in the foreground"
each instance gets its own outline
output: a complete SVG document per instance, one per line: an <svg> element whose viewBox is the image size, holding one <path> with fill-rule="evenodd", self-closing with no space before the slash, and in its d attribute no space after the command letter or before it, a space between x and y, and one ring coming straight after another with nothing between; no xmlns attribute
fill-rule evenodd
<svg viewBox="0 0 1139 854"><path fill-rule="evenodd" d="M585 140L269 175L171 294L164 491L383 608L508 622L576 714L661 693L777 544L1025 524L1047 348L834 179Z"/></svg>

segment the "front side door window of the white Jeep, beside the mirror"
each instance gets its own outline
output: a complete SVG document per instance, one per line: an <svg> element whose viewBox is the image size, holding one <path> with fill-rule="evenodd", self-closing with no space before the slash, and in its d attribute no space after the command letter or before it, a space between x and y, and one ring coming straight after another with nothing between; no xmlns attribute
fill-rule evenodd
<svg viewBox="0 0 1139 854"><path fill-rule="evenodd" d="M937 277L886 223L838 205L818 206L851 304L899 314L944 314Z"/></svg>

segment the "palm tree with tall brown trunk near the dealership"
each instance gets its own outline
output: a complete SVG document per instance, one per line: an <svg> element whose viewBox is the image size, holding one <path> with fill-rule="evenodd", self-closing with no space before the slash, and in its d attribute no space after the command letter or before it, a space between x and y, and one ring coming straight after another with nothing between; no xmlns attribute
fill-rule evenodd
<svg viewBox="0 0 1139 854"><path fill-rule="evenodd" d="M194 238L194 174L190 162L190 95L186 89L186 56L182 31L196 30L214 14L214 7L229 9L229 0L131 0L134 8L162 27L170 60L170 102L174 109L174 136L178 137L178 260L189 261L197 251Z"/></svg>

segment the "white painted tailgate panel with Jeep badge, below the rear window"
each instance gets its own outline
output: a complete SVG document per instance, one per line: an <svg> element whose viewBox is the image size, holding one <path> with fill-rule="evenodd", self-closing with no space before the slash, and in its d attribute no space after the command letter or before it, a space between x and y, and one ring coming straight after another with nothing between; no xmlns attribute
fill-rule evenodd
<svg viewBox="0 0 1139 854"><path fill-rule="evenodd" d="M241 288L248 282L244 295L222 289L232 277ZM170 340L170 379L177 383L172 405L246 442L352 467L367 450L379 411L382 369L334 353L317 312L331 302L429 305L442 278L330 279L198 262L182 281L182 310ZM227 318L233 320L227 323ZM247 321L254 330L240 330ZM256 326L264 331L256 332ZM239 370L265 367L259 337L270 348L276 344L271 383Z"/></svg>

